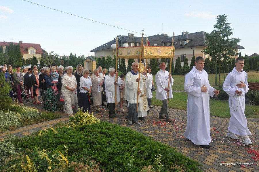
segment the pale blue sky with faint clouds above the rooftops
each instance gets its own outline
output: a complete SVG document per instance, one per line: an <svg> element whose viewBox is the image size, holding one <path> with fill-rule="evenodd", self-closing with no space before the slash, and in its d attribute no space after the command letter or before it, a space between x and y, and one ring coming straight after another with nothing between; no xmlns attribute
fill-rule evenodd
<svg viewBox="0 0 259 172"><path fill-rule="evenodd" d="M143 29L144 37L211 33L217 16L225 14L233 29L231 38L241 39L239 45L245 47L240 50L242 56L259 54L256 0L28 1L0 0L0 41L37 43L60 56L89 56L94 55L90 50L117 35L141 37Z"/></svg>

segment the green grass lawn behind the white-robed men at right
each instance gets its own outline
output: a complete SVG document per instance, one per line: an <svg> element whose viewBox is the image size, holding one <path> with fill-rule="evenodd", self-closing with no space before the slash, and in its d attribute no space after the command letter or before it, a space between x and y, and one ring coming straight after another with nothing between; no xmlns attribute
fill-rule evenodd
<svg viewBox="0 0 259 172"><path fill-rule="evenodd" d="M247 72L248 81L257 81L259 72L258 71L249 71ZM226 74L225 74L226 77ZM183 75L173 75L174 84L173 90L184 91L184 76ZM154 84L155 84L155 75L153 75ZM221 83L224 82L224 76L221 74ZM209 81L212 87L218 89L218 86L215 86L215 74L209 75ZM156 85L156 84L155 84ZM156 86L155 86L156 87ZM187 105L187 93L186 92L174 92L174 98L170 99L168 107L186 110ZM157 100L156 92L153 91L153 98L151 104L162 106L162 101ZM212 99L210 99L212 101ZM210 113L213 116L230 118L228 101L216 100L212 107L210 108ZM245 115L247 118L259 118L259 106L257 105L245 105Z"/></svg>

